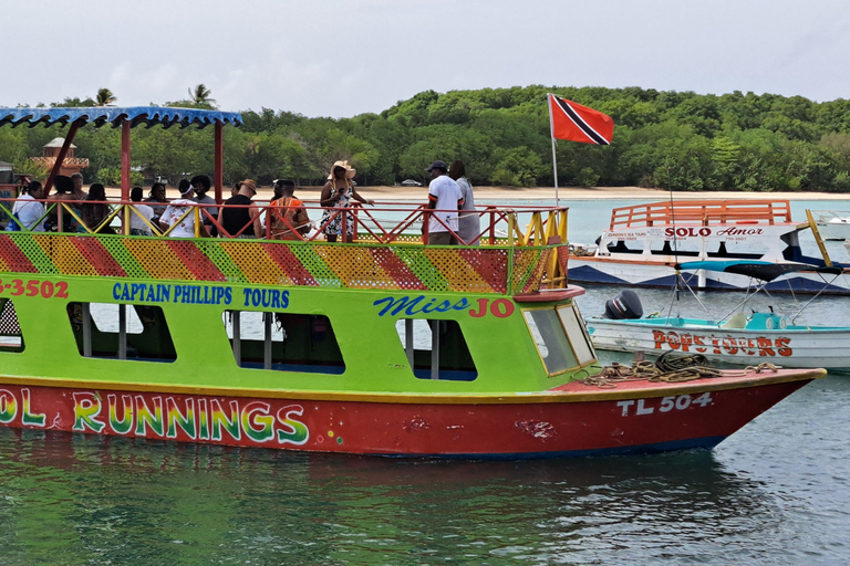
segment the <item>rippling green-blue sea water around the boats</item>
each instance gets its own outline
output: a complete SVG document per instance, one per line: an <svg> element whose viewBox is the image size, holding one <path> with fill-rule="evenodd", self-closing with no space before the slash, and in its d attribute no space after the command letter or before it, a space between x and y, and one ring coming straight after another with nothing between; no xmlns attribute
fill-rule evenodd
<svg viewBox="0 0 850 566"><path fill-rule="evenodd" d="M570 202L571 234L630 203ZM812 306L850 321L847 297ZM830 375L711 452L516 462L0 428L0 564L850 564L849 409Z"/></svg>

